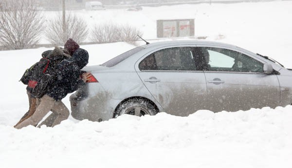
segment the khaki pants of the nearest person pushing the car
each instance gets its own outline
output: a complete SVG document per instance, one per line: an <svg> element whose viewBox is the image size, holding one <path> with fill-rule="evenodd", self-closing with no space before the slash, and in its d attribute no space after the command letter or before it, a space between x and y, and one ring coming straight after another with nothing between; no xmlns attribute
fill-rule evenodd
<svg viewBox="0 0 292 168"><path fill-rule="evenodd" d="M38 105L35 113L27 120L19 123L15 128L20 129L28 125L37 125L38 122L40 122L43 119L43 117L47 115L48 112L51 110L55 114L50 115L45 121L54 120L48 121L52 123L52 126L55 126L61 123L63 120L68 119L70 112L62 101L55 101L54 98L46 94L40 99L41 99L40 104Z"/></svg>

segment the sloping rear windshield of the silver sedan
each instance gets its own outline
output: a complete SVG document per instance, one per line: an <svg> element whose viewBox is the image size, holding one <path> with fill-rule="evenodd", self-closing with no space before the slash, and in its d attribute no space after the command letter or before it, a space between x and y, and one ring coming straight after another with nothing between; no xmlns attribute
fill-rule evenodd
<svg viewBox="0 0 292 168"><path fill-rule="evenodd" d="M105 63L101 64L101 66L105 66L105 67L112 67L118 63L120 63L121 61L126 60L127 58L129 58L131 55L136 54L137 52L143 50L144 48L141 46L138 46L136 48L133 48L131 50L128 50L127 52L116 56L115 58L111 59L110 61L106 61Z"/></svg>

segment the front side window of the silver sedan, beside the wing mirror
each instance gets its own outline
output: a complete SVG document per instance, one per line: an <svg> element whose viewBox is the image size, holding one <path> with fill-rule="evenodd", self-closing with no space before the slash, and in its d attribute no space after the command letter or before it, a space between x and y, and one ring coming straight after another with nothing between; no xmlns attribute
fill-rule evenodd
<svg viewBox="0 0 292 168"><path fill-rule="evenodd" d="M205 71L225 72L257 72L263 73L263 63L229 49L215 47L198 47L203 50L203 57L207 58Z"/></svg>

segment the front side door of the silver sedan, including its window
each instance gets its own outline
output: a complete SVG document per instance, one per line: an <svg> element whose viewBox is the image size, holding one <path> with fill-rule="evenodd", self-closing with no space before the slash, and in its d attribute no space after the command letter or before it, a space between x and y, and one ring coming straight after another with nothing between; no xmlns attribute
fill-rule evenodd
<svg viewBox="0 0 292 168"><path fill-rule="evenodd" d="M276 75L263 73L263 63L234 49L198 46L206 59L209 109L237 111L280 105Z"/></svg>

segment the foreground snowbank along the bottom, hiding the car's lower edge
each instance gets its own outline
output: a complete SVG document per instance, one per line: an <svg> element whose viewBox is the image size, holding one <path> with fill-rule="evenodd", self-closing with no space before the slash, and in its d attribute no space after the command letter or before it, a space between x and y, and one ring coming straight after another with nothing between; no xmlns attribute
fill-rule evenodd
<svg viewBox="0 0 292 168"><path fill-rule="evenodd" d="M292 107L0 125L2 168L291 168ZM2 160L3 159L3 160Z"/></svg>

